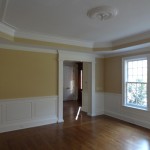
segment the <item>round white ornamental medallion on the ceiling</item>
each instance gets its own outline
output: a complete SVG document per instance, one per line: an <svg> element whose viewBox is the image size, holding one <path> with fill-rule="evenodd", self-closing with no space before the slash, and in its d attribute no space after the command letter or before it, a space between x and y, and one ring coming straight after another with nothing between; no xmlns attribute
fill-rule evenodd
<svg viewBox="0 0 150 150"><path fill-rule="evenodd" d="M89 18L97 18L99 20L107 20L118 14L118 10L110 6L99 6L90 9L87 12Z"/></svg>

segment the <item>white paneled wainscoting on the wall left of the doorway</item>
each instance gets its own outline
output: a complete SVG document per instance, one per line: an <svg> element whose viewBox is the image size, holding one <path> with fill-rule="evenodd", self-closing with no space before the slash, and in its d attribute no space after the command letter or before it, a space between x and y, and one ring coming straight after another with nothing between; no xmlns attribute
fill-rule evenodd
<svg viewBox="0 0 150 150"><path fill-rule="evenodd" d="M0 100L0 132L56 123L57 96Z"/></svg>

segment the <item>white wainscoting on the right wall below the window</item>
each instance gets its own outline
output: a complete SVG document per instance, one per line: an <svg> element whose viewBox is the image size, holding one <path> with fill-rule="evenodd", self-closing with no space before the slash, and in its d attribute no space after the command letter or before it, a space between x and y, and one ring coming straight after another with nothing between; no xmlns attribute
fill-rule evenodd
<svg viewBox="0 0 150 150"><path fill-rule="evenodd" d="M122 94L105 93L104 112L108 116L150 129L150 111L123 106Z"/></svg>

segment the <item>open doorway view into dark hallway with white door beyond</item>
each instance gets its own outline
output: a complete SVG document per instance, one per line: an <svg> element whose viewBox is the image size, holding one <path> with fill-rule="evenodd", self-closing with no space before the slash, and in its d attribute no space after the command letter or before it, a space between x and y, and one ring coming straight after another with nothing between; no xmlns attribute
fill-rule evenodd
<svg viewBox="0 0 150 150"><path fill-rule="evenodd" d="M64 61L63 117L65 121L72 122L80 115L79 109L82 107L82 70L82 62Z"/></svg>

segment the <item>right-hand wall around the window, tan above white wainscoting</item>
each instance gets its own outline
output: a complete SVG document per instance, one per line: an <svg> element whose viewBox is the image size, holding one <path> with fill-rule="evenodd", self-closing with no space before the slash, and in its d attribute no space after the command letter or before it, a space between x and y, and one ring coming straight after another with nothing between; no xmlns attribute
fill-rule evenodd
<svg viewBox="0 0 150 150"><path fill-rule="evenodd" d="M105 97L104 113L121 120L150 128L150 111L122 105L122 58L146 53L113 56L104 60Z"/></svg>

